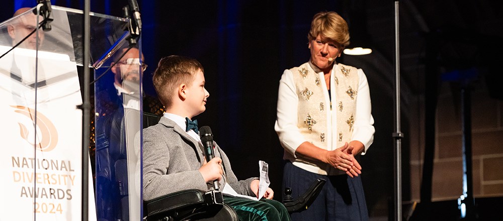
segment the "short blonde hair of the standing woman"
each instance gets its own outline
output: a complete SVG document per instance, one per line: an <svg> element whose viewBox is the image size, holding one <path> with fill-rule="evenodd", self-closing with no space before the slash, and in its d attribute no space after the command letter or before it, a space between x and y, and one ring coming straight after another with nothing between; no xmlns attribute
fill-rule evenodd
<svg viewBox="0 0 503 221"><path fill-rule="evenodd" d="M343 48L349 45L348 23L336 12L319 12L314 15L307 38L311 41L318 35L339 43Z"/></svg>

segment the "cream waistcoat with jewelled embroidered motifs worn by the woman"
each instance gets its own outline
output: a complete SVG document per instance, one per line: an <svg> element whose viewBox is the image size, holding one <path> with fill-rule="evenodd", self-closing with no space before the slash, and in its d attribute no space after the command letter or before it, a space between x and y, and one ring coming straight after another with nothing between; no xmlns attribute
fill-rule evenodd
<svg viewBox="0 0 503 221"><path fill-rule="evenodd" d="M330 88L331 102L323 73L319 69L316 72L307 62L290 71L299 96L297 127L304 138L325 150L334 150L345 142L350 142L358 95L357 69L343 64L334 65L330 76L330 81L333 82L330 85L334 86ZM337 128L332 118L337 118L333 119L337 120ZM337 133L332 130L337 130ZM332 137L332 134L337 137ZM294 164L296 162L311 165L311 170L318 169L310 172L322 175L344 174L343 171L318 161L299 157L294 160Z"/></svg>

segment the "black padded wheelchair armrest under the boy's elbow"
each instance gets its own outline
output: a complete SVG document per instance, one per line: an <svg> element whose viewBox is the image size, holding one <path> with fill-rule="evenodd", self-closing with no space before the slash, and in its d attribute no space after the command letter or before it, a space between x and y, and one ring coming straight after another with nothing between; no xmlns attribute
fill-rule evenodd
<svg viewBox="0 0 503 221"><path fill-rule="evenodd" d="M160 220L164 217L178 220L218 210L222 205L223 196L220 191L188 189L144 201L143 214L146 214L147 220Z"/></svg>

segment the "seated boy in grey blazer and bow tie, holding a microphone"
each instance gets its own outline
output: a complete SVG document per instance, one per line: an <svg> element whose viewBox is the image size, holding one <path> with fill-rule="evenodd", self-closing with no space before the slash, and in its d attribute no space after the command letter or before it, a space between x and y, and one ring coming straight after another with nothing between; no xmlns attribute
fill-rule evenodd
<svg viewBox="0 0 503 221"><path fill-rule="evenodd" d="M208 191L232 187L238 194L257 197L259 179L237 180L225 153L214 145L215 157L206 161L197 121L209 96L204 69L195 59L172 55L162 58L153 84L165 113L157 125L143 131L143 200L187 189ZM268 188L261 200L224 195L239 220L290 220L286 207L273 200Z"/></svg>

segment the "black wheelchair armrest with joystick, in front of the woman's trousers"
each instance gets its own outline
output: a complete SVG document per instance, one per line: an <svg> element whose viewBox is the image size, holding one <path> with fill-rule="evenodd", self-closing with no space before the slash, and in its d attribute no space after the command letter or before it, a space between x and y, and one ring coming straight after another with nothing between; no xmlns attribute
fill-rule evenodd
<svg viewBox="0 0 503 221"><path fill-rule="evenodd" d="M321 188L323 188L323 185L325 185L325 182L326 180L321 178L314 180L314 182L311 184L311 186L306 190L304 194L302 194L301 196L299 196L299 198L293 201L283 200L283 205L285 205L289 213L301 212L306 210L313 203L316 197L318 197L318 194L321 191ZM290 191L290 193L287 193L287 191ZM285 188L285 194L287 195L291 194L291 189ZM285 199L286 198L287 197L285 197Z"/></svg>

